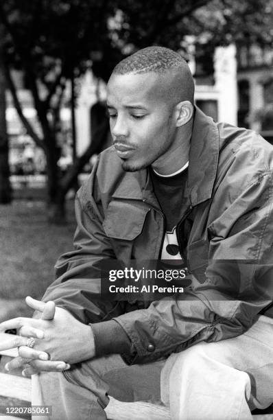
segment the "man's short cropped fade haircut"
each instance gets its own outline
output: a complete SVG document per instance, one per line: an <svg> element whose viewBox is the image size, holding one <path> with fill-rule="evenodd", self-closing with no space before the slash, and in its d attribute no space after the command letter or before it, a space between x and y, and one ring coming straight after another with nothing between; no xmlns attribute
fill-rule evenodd
<svg viewBox="0 0 273 420"><path fill-rule="evenodd" d="M194 82L187 62L180 54L165 47L147 47L119 62L112 74L175 72L180 80L176 94L193 104Z"/></svg>

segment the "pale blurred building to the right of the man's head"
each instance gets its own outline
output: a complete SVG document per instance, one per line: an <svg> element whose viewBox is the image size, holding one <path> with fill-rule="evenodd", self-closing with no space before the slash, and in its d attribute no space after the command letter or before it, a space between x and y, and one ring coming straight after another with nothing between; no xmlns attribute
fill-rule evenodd
<svg viewBox="0 0 273 420"><path fill-rule="evenodd" d="M217 121L251 128L273 143L272 65L269 47L218 47L211 65L195 63L198 106Z"/></svg>

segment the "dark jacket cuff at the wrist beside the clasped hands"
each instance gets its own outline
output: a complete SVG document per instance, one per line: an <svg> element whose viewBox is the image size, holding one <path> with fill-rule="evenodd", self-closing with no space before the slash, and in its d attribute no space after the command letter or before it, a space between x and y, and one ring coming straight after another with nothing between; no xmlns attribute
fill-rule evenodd
<svg viewBox="0 0 273 420"><path fill-rule="evenodd" d="M124 329L115 320L89 324L95 340L95 356L130 354L132 345Z"/></svg>

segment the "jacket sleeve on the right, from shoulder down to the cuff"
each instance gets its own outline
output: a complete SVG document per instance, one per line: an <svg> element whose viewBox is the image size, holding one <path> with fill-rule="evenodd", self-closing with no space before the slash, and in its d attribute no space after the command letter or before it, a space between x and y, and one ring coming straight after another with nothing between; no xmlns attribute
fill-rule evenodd
<svg viewBox="0 0 273 420"><path fill-rule="evenodd" d="M148 362L243 334L272 303L272 174L259 174L209 226L209 260L191 292L116 318ZM218 205L225 188L219 190ZM228 222L227 222L228 221ZM226 226L226 227L224 227Z"/></svg>

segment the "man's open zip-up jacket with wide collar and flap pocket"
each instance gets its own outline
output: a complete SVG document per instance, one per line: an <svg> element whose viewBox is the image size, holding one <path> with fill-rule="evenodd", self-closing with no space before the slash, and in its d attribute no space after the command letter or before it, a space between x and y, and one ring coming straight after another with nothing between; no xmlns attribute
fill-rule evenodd
<svg viewBox="0 0 273 420"><path fill-rule="evenodd" d="M152 303L113 303L100 299L99 261L158 259L165 232L149 170L124 172L108 148L78 192L75 249L58 260L44 300L92 324L98 356L124 353L128 363L239 336L259 314L273 317L272 170L270 143L196 108L189 207L177 229L193 286ZM120 331L116 347L111 330Z"/></svg>

